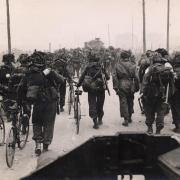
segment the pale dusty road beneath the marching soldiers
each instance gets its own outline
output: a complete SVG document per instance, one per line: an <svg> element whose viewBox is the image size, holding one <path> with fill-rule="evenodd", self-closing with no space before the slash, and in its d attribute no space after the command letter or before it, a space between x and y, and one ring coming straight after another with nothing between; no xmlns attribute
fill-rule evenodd
<svg viewBox="0 0 180 180"><path fill-rule="evenodd" d="M79 135L75 134L75 123L73 119L73 113L68 115L67 106L65 111L56 117L54 139L49 147L49 155L42 154L40 158L34 155L34 142L32 141L32 126L30 127L30 135L28 143L23 150L17 149L15 154L14 165L9 169L5 161L5 146L0 147L0 174L1 180L14 180L20 177L26 176L30 172L36 169L37 164L45 164L57 156L62 156L68 153L73 148L79 146L83 142L87 141L92 136L103 136L103 135L115 135L117 132L145 132L145 116L141 115L140 109L137 102L138 93L135 96L135 114L133 115L132 124L129 127L122 126L123 119L120 118L119 112L119 100L117 95L112 89L111 82L109 83L111 96L108 96L106 92L106 100L104 105L105 115L103 118L103 125L100 129L95 130L92 128L93 122L88 116L88 102L87 93L83 93L81 98L81 110L82 120L80 124ZM10 124L6 123L6 133ZM162 134L174 134L172 125L171 114L165 117L165 128L162 130ZM177 135L177 134L176 134ZM177 135L178 136L178 135ZM53 152L53 153L52 153ZM52 155L53 154L53 155Z"/></svg>

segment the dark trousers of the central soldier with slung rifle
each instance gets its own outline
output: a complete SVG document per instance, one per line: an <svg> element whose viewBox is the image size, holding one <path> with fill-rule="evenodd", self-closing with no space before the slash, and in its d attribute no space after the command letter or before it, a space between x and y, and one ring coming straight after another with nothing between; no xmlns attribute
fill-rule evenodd
<svg viewBox="0 0 180 180"><path fill-rule="evenodd" d="M102 118L104 115L103 106L105 100L105 91L88 92L89 116L94 118Z"/></svg>

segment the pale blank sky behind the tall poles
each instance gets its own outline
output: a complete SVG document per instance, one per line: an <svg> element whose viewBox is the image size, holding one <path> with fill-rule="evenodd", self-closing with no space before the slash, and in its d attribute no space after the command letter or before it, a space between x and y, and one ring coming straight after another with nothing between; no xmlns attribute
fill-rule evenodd
<svg viewBox="0 0 180 180"><path fill-rule="evenodd" d="M147 48L166 47L167 0L145 0ZM12 48L107 47L142 49L142 0L9 0ZM180 49L180 0L171 0L170 49ZM108 26L110 38L108 39ZM110 41L109 41L110 40ZM6 0L0 0L0 52L7 49Z"/></svg>

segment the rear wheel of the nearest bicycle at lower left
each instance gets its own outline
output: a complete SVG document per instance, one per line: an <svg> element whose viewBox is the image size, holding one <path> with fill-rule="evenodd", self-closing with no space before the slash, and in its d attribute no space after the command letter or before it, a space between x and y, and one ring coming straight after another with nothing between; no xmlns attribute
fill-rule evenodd
<svg viewBox="0 0 180 180"><path fill-rule="evenodd" d="M16 132L12 127L6 140L6 163L9 168L12 167L16 148Z"/></svg>

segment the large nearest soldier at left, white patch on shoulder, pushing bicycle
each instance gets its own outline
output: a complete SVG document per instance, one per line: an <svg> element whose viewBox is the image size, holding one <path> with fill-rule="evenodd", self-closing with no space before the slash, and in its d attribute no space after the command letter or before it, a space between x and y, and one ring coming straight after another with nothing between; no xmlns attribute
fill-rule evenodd
<svg viewBox="0 0 180 180"><path fill-rule="evenodd" d="M31 55L32 64L18 88L18 94L33 104L33 140L37 155L41 154L41 143L45 152L52 142L58 99L56 85L64 83L61 75L46 69L44 57L45 54L38 51Z"/></svg>

